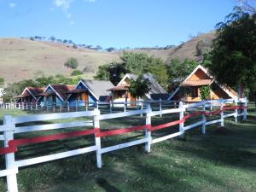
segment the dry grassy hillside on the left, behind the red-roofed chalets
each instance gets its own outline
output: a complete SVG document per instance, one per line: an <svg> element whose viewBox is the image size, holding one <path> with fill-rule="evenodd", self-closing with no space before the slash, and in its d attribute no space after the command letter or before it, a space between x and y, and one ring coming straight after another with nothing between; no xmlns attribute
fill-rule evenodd
<svg viewBox="0 0 256 192"><path fill-rule="evenodd" d="M20 38L0 39L0 77L7 82L30 79L38 71L45 75L70 74L64 67L68 57L79 61L79 69L88 67L92 73L99 65L119 61L119 55L90 49L73 49L65 45ZM90 73L91 73L90 72Z"/></svg>

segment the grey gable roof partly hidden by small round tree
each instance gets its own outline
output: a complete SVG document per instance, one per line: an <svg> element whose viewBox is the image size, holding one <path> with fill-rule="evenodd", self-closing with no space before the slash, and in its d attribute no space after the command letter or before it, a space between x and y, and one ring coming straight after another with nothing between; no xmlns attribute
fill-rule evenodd
<svg viewBox="0 0 256 192"><path fill-rule="evenodd" d="M136 80L137 77L138 77L138 75L136 75L136 74L126 73L125 77L120 80L120 82L117 86L122 85L122 83L127 78ZM143 74L143 79L148 79L148 81L150 83L150 90L149 90L148 94L146 94L146 96L148 96L148 98L150 98L149 95L151 95L151 94L167 94L167 91L156 81L153 74L151 74L151 73Z"/></svg>

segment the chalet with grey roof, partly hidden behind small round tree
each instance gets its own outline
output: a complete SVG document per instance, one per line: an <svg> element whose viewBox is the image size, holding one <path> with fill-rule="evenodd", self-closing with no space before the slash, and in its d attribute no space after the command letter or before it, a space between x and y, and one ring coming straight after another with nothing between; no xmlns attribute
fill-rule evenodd
<svg viewBox="0 0 256 192"><path fill-rule="evenodd" d="M136 102L136 98L131 96L129 92L129 87L131 85L131 80L137 79L136 74L126 73L125 77L120 80L119 84L109 89L112 92L113 102ZM150 90L143 98L143 101L147 100L167 100L170 96L167 94L166 90L161 87L161 85L154 79L154 75L151 73L143 74L143 79L148 79L150 83Z"/></svg>

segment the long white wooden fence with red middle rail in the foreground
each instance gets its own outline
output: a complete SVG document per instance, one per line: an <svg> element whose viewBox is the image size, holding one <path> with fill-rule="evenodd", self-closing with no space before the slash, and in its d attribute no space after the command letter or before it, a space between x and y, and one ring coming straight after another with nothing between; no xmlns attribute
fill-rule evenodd
<svg viewBox="0 0 256 192"><path fill-rule="evenodd" d="M239 106L238 106L239 104ZM213 107L212 107L213 106ZM217 110L213 110L212 109ZM231 113L225 113L230 111ZM240 111L240 112L239 112ZM151 119L156 115L163 114L176 114L179 118L175 121L163 124L163 125L152 125ZM220 115L218 115L220 114ZM137 125L133 127L128 127L118 130L102 131L100 122L105 119L117 119L122 117L129 117L134 115L144 115L145 116L145 125ZM207 120L208 116L216 115L219 119ZM187 120L194 118L196 116L200 117L198 122L193 122L190 125L187 125ZM121 112L121 113L107 113L101 114L100 110L95 108L93 111L84 111L84 112L73 112L73 113L49 113L49 114L39 114L39 115L28 115L20 117L5 116L3 119L3 125L0 125L0 131L3 132L3 135L0 136L0 139L3 140L4 148L0 149L0 154L5 155L5 170L0 171L0 177L7 178L7 185L9 192L17 192L17 174L18 169L23 166L31 166L43 162L48 162L50 160L59 160L62 158L67 158L73 155L85 154L95 151L96 152L96 165L98 168L102 167L102 154L108 153L113 150L118 150L120 148L128 148L138 144L145 144L145 150L150 152L151 145L154 143L160 143L166 139L172 137L183 137L185 131L189 129L201 126L202 134L206 133L207 125L219 123L221 126L224 126L224 118L234 117L237 121L237 117L242 116L244 120L247 119L247 99L240 100L216 100L216 101L204 101L199 103L193 103L188 105L183 105L183 102L179 103L178 108L152 111L148 105L146 109L133 110L130 112ZM19 124L31 123L37 121L46 121L52 119L70 119L70 118L79 118L87 117L89 120L84 121L73 121L68 123L54 123L49 125L26 125L20 126ZM187 123L186 123L187 122ZM179 131L166 135L164 137L153 138L151 133L153 131L161 130L173 125L179 126ZM67 133L59 133L48 136L41 137L32 137L32 138L20 138L14 139L15 134L26 133L32 131L49 131L57 129L66 129L70 127L84 127L90 126L91 129L83 131L69 131ZM102 137L109 137L113 135L130 133L133 131L144 131L144 137L135 141L128 143L120 143L118 145L109 146L102 148ZM86 148L78 148L69 150L66 152L61 152L57 154L49 154L39 157L34 157L26 160L15 160L15 153L18 152L18 148L22 145L33 144L33 143L45 143L50 141L55 141L59 139L65 139L69 137L81 137L93 135L95 138L95 143Z"/></svg>

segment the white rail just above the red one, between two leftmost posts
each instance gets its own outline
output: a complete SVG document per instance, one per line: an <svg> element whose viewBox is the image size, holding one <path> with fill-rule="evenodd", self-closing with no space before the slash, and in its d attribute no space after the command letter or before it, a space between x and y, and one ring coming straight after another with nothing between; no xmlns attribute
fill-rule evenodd
<svg viewBox="0 0 256 192"><path fill-rule="evenodd" d="M20 126L20 127L16 127L15 133L66 129L70 127L79 127L79 126L93 126L93 122L92 121L74 121L70 123Z"/></svg>

